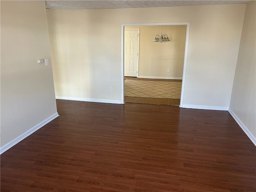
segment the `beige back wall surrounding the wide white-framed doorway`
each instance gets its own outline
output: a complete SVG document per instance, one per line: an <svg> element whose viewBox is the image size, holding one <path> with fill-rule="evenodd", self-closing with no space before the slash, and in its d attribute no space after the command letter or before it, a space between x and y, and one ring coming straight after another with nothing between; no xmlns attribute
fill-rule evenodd
<svg viewBox="0 0 256 192"><path fill-rule="evenodd" d="M245 7L46 10L56 95L121 101L121 24L190 22L183 104L228 108Z"/></svg>

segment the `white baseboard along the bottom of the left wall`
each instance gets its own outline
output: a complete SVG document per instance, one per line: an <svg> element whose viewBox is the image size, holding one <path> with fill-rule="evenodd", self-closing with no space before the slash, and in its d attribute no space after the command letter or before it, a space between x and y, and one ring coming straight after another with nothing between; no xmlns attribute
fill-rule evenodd
<svg viewBox="0 0 256 192"><path fill-rule="evenodd" d="M20 136L16 137L15 139L11 140L4 146L0 148L0 154L3 152L6 152L8 149L16 145L18 142L22 141L24 138L30 136L32 133L40 129L42 126L46 125L50 121L54 120L56 117L58 117L59 114L55 113L52 116L48 117L47 119L43 120L42 122L38 123L36 126L32 127L30 130L27 130L26 132L22 133Z"/></svg>

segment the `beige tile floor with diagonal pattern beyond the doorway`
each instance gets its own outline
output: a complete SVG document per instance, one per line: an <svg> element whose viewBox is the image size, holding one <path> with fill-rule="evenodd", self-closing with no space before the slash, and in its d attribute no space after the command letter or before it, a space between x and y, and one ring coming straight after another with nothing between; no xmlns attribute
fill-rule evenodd
<svg viewBox="0 0 256 192"><path fill-rule="evenodd" d="M125 79L124 82L127 82L127 80L137 80L135 82L132 82L132 83L135 83L134 87L127 86L127 84L125 83L124 102L143 103L143 104L161 104L161 105L179 105L180 104L180 92L181 92L182 80L146 79L146 78L132 78L132 77L125 77L124 79ZM148 81L153 81L153 82L148 82ZM153 87L152 87L152 84L154 85ZM172 87L171 89L170 85L173 85L173 84L176 84L176 86ZM153 90L153 91L148 92L149 90Z"/></svg>

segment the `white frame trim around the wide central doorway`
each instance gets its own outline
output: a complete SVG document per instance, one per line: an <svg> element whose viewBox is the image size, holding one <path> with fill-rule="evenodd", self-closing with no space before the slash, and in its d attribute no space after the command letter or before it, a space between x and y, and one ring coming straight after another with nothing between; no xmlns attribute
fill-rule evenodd
<svg viewBox="0 0 256 192"><path fill-rule="evenodd" d="M184 54L184 64L183 64L183 75L182 75L182 87L180 96L180 107L183 106L184 98L184 87L186 79L186 67L187 67L187 57L188 57L188 37L189 37L189 26L190 22L170 22L170 23L128 23L121 24L121 82L122 82L122 103L124 104L124 27L126 26L158 26L158 25L186 25L186 43L185 43L185 54Z"/></svg>

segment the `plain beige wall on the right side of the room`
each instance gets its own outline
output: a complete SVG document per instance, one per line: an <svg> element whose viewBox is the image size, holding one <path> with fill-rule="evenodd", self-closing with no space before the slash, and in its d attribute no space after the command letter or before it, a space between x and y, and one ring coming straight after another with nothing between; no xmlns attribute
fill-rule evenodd
<svg viewBox="0 0 256 192"><path fill-rule="evenodd" d="M256 138L256 2L246 5L230 109Z"/></svg>

